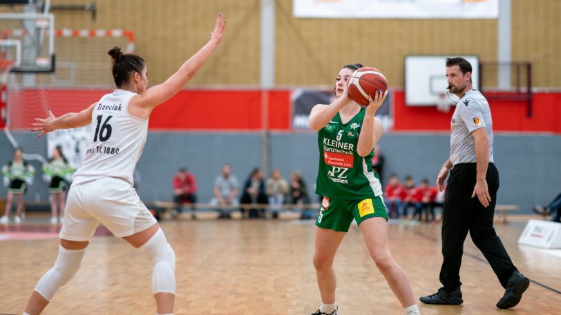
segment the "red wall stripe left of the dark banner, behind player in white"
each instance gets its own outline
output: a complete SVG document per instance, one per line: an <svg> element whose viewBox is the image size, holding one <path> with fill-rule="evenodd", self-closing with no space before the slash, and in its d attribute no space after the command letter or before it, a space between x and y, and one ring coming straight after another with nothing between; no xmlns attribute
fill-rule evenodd
<svg viewBox="0 0 561 315"><path fill-rule="evenodd" d="M111 90L26 89L8 93L10 128L28 130L34 118L79 112ZM265 97L264 97L265 96ZM158 130L249 130L263 128L262 99L268 101L267 128L289 130L290 91L183 90L152 112L150 129ZM2 124L0 123L0 126Z"/></svg>

